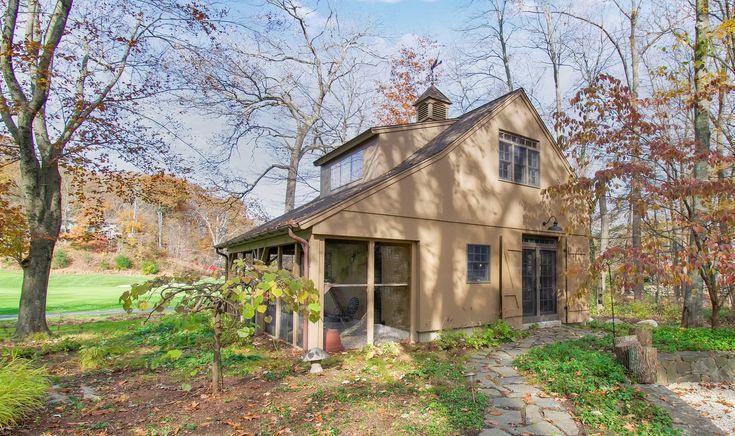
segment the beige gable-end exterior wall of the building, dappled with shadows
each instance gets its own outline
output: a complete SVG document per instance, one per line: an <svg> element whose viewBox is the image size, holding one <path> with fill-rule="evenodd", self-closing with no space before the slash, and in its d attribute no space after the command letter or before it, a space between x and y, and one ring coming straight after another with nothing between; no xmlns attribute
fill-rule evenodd
<svg viewBox="0 0 735 436"><path fill-rule="evenodd" d="M540 188L499 179L500 130L539 141ZM451 152L316 223L312 232L321 239L340 235L417 241L419 332L498 319L501 268L502 315L518 326L522 321L522 235L559 236L545 231L542 222L556 215L564 227L564 213L542 196L541 189L568 177L565 161L519 97ZM561 236L557 246L558 308L562 321L577 322L587 317L586 298L577 298L586 271L587 242L581 229L567 231L578 236ZM489 283L467 283L467 244L491 246ZM571 248L565 253L567 244ZM570 302L568 314L566 302Z"/></svg>

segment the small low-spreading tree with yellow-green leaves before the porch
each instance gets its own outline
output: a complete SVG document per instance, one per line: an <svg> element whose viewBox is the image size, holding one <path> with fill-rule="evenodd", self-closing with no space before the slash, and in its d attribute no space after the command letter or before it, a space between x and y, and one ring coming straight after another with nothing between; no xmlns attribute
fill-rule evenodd
<svg viewBox="0 0 735 436"><path fill-rule="evenodd" d="M265 314L269 301L281 300L281 305L298 312L309 321L321 316L319 291L314 282L294 277L289 271L277 270L256 262L243 260L233 263L230 277L225 279L200 276L159 277L134 284L120 297L123 308L148 311L150 315L172 307L188 315L209 313L213 320L212 392L222 389L222 333L224 325L238 326L240 337L250 337L255 328L256 314ZM223 323L225 317L241 316L244 323ZM264 321L272 322L269 316Z"/></svg>

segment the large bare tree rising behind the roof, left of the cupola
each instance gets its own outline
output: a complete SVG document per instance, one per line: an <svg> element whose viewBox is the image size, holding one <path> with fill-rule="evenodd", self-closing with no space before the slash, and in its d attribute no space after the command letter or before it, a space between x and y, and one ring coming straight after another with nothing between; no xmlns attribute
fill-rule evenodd
<svg viewBox="0 0 735 436"><path fill-rule="evenodd" d="M355 100L337 98L354 84L351 74L366 53L364 30L347 30L335 11L319 15L295 0L267 0L256 24L232 27L216 45L189 56L182 101L199 113L225 120L211 164L218 183L241 197L261 181L286 181L284 208L296 203L300 164L334 146L359 112ZM335 142L332 142L335 141ZM240 176L223 167L241 147L266 154L265 168Z"/></svg>

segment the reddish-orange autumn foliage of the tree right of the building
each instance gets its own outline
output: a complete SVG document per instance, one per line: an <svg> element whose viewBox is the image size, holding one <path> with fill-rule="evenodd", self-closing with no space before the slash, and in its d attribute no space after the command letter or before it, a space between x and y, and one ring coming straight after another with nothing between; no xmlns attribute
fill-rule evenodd
<svg viewBox="0 0 735 436"><path fill-rule="evenodd" d="M613 243L594 259L593 269L613 265L617 289L647 280L680 289L699 275L717 313L735 285L735 181L723 177L735 162L721 149L698 151L679 118L693 96L671 89L636 98L619 80L602 75L580 91L563 124L573 159L593 172L549 192L593 209L603 190L622 200L637 179L641 195L628 207L643 217L643 244ZM702 161L709 168L704 180L694 176ZM590 162L598 166L588 168ZM695 202L701 205L696 214Z"/></svg>

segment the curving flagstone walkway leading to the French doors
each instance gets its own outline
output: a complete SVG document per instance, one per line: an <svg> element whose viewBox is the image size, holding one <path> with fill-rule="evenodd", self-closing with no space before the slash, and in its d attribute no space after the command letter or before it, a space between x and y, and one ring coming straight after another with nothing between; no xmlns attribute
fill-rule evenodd
<svg viewBox="0 0 735 436"><path fill-rule="evenodd" d="M590 334L572 327L539 329L521 341L498 349L478 351L467 361L468 371L477 374L478 390L489 401L485 429L480 436L493 435L578 435L583 433L564 406L531 386L513 368L513 359L530 348Z"/></svg>

